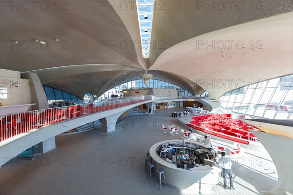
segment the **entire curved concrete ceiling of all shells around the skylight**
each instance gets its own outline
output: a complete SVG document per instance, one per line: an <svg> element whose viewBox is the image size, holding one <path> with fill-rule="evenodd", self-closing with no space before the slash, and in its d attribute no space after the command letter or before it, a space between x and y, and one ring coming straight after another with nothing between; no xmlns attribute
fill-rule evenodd
<svg viewBox="0 0 293 195"><path fill-rule="evenodd" d="M33 6L20 11L11 5L1 8L0 67L36 72L44 84L67 79L69 91L63 90L79 97L87 91L103 94L109 89L108 81L137 79L140 73L133 71L146 68L154 78L192 94L207 89L212 98L237 87L207 87L213 79L243 79L247 84L293 72L292 0L239 1L245 4L244 9L239 3L236 6L236 2L224 0L223 11L220 1L210 1L215 3L211 7L208 1L155 1L149 59L142 58L135 1L125 1L126 9L120 1L64 1L67 4L60 5L58 11L55 1L46 2L51 7L48 11L39 5L36 10ZM268 18L271 16L275 17ZM217 49L196 49L199 40L244 40L246 47L225 50L223 58ZM262 40L264 50L246 50L251 40ZM231 56L233 60L229 60ZM97 87L97 78L108 81Z"/></svg>

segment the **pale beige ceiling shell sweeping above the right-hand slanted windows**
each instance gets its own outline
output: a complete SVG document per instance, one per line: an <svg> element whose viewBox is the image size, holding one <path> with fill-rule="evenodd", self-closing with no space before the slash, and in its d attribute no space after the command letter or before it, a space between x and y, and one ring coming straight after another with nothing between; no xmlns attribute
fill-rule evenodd
<svg viewBox="0 0 293 195"><path fill-rule="evenodd" d="M238 87L292 74L292 24L292 13L287 13L207 33L169 48L150 70L168 69L209 91L210 98L218 98ZM222 40L223 49L200 46L201 41ZM228 40L233 41L231 46Z"/></svg>

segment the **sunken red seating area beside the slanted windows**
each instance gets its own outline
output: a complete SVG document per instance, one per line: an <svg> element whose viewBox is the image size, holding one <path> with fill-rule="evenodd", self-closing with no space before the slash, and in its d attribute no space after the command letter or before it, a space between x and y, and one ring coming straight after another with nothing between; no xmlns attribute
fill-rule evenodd
<svg viewBox="0 0 293 195"><path fill-rule="evenodd" d="M200 115L194 116L192 119L191 124L186 125L204 133L243 144L258 141L250 132L250 129L258 130L258 128L242 120L232 119L230 114Z"/></svg>

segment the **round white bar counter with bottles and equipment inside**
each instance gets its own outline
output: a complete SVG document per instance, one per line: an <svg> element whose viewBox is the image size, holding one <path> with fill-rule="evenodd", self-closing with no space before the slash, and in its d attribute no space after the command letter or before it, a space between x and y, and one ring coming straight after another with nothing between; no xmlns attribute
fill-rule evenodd
<svg viewBox="0 0 293 195"><path fill-rule="evenodd" d="M185 143L186 147L183 147L182 140L166 140L154 144L149 150L152 162L156 164L156 169L162 168L164 170L166 183L169 187L190 194L210 192L211 187L219 182L219 173L222 171L222 169L213 166L214 162L209 159L210 157L213 157L213 153L210 152L205 147L205 145L190 140L186 140ZM162 148L163 145L167 147ZM160 146L161 149L159 150ZM174 159L174 151L180 149L180 153L182 153L182 148L186 151L187 154L188 151L189 154L190 152L196 154L198 158L196 161L199 163L204 162L204 164L196 164L196 166L193 166L193 164L188 162L189 169L187 168L187 164L185 164L186 166L184 169L181 167L178 168L176 164L178 164L180 161L185 161L185 159L178 159L176 155ZM158 152L161 154L162 152L164 154L171 153L172 160L169 158L163 159L161 155L158 154ZM206 156L207 159L203 159L203 156ZM176 164L174 161L176 161ZM192 168L190 165L192 165Z"/></svg>

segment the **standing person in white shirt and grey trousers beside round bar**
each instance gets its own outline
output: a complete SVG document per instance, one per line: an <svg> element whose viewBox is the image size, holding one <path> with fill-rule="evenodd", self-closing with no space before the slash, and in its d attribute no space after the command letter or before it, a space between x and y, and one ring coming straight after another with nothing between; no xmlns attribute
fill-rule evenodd
<svg viewBox="0 0 293 195"><path fill-rule="evenodd" d="M230 158L226 157L226 153L222 152L221 153L222 157L219 159L219 161L217 162L217 164L220 167L223 167L223 177L224 177L224 189L227 189L227 174L229 175L230 178L230 190L235 190L235 188L233 187L233 173L232 173L232 162Z"/></svg>

